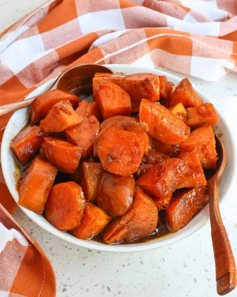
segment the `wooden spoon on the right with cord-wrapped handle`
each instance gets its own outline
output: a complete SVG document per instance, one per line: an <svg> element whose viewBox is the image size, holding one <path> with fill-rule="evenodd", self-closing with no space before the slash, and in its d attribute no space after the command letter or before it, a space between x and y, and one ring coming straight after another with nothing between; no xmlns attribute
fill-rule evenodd
<svg viewBox="0 0 237 297"><path fill-rule="evenodd" d="M209 212L212 230L212 246L215 257L217 293L225 295L236 287L236 264L230 241L223 225L219 208L219 186L226 166L225 147L215 135L218 153L217 170L207 181L209 195Z"/></svg>

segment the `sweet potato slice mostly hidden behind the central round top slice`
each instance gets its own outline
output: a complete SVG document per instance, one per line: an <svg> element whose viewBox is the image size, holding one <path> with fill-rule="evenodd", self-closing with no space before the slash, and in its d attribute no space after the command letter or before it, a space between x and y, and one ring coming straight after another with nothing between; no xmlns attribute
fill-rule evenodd
<svg viewBox="0 0 237 297"><path fill-rule="evenodd" d="M149 151L149 139L148 135L143 129L142 125L139 122L139 119L135 119L129 116L112 116L111 118L106 119L100 124L101 131L106 127L117 127L123 129L124 131L129 131L137 134L141 143L144 146L144 154L148 154ZM97 153L97 144L94 146L94 156Z"/></svg>

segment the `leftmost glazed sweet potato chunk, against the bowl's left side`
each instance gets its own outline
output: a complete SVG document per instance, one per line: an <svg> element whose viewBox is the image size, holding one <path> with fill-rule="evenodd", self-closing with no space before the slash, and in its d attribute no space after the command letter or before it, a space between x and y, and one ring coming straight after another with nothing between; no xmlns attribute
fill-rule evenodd
<svg viewBox="0 0 237 297"><path fill-rule="evenodd" d="M41 144L44 142L44 135L37 126L28 126L21 130L14 138L11 149L17 159L26 165L39 152Z"/></svg>

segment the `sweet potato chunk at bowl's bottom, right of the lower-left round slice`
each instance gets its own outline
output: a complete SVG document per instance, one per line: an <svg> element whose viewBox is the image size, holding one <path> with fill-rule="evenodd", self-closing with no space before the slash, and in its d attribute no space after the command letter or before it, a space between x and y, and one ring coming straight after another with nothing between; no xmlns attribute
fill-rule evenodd
<svg viewBox="0 0 237 297"><path fill-rule="evenodd" d="M103 209L86 201L84 215L79 227L71 232L80 239L91 239L100 233L111 221L111 217Z"/></svg>

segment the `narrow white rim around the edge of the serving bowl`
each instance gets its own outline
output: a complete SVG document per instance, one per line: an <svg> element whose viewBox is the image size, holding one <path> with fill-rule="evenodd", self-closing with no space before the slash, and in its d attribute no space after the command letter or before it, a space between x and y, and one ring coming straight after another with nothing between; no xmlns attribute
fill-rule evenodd
<svg viewBox="0 0 237 297"><path fill-rule="evenodd" d="M136 65L127 65L127 64L106 64L104 66L110 68L114 72L119 72L119 73L129 72L129 69L130 69L130 70L132 70L133 73L152 72L152 73L155 73L157 75L166 75L169 78L169 80L171 80L171 81L177 81L177 80L180 81L182 79L182 78L179 78L179 77L177 77L175 75L172 75L172 74L170 74L168 72L165 72L163 70L152 69L152 68L149 68L149 67L136 66ZM127 69L127 70L123 70L123 69ZM48 80L43 85L41 85L39 88L33 90L33 92L37 92L37 90L38 90L38 94L39 94L40 89L42 89L43 87L49 88L49 86L52 85L56 81L56 79L57 78L53 78L51 80ZM196 87L194 89L198 92L198 94L201 97L204 98L204 101L207 100L207 97L203 92L199 91L198 88L196 88ZM30 98L32 96L31 94L33 92L28 94L26 99ZM234 137L233 137L233 133L231 132L230 126L226 122L225 118L223 118L223 116L221 115L220 110L218 108L216 108L216 110L217 110L217 112L219 114L219 117L221 118L225 128L228 130L229 141L230 141L232 147L234 148L235 140L234 140ZM7 188L9 189L10 194L12 195L13 199L16 202L18 201L18 197L17 198L15 197L15 193L14 193L14 191L12 189L12 186L8 182L8 178L7 178L8 172L10 171L9 170L9 165L8 165L8 162L7 162L7 160L8 160L8 150L9 150L9 141L7 141L7 132L11 128L12 121L14 122L14 119L17 116L17 112L19 112L19 111L15 111L12 114L11 118L9 119L9 121L7 123L7 126L5 128L4 135L3 135L3 138L2 138L2 143L1 143L1 166L2 166L2 172L3 172L4 180L6 182L6 185L7 185ZM232 158L233 172L232 172L232 175L231 175L232 178L228 182L228 190L225 192L222 200L220 201L220 206L223 203L226 203L226 201L230 197L230 194L233 191L234 182L237 179L237 166L236 166L237 153L236 153L236 151L234 149L232 151L233 151L233 156L232 156L233 157ZM180 232L177 232L177 233L172 233L169 236L164 236L164 237L158 238L156 240L151 240L151 241L141 243L141 244L125 244L125 245L112 244L111 245L111 244L98 243L98 242L92 241L92 240L82 240L82 239L76 238L75 236L72 236L69 233L65 233L63 231L57 230L56 228L54 228L50 224L45 224L44 226L42 226L40 221L37 219L36 214L33 211L30 211L30 210L28 210L28 209L26 209L26 208L24 208L24 207L22 207L20 205L18 205L18 206L23 210L23 212L33 222L35 222L41 228L43 228L43 229L47 230L48 232L52 233L53 235L55 235L55 236L57 236L57 237L59 237L59 238L61 238L63 240L66 240L66 241L68 241L70 243L81 246L81 247L85 247L85 248L88 248L88 249L94 249L94 250L98 250L98 251L105 251L105 252L120 252L120 253L121 252L141 252L141 251L146 251L146 250L155 249L155 248L159 248L159 247L164 247L164 246L173 244L173 243L175 243L177 241L180 241L180 240L190 236L191 234L195 233L196 231L198 231L199 229L204 227L209 222L209 213L208 213L208 216L205 218L204 222L201 225L199 225L197 227L195 227L197 224L194 225L193 228L191 230L189 230L189 232L186 232L186 234L182 234L184 236L182 236L180 234ZM207 205L207 207L208 207L208 205ZM50 225L51 228L48 225ZM180 236L177 235L177 234L180 234ZM65 235L67 235L67 236L65 236ZM172 236L172 235L176 235L176 236Z"/></svg>

